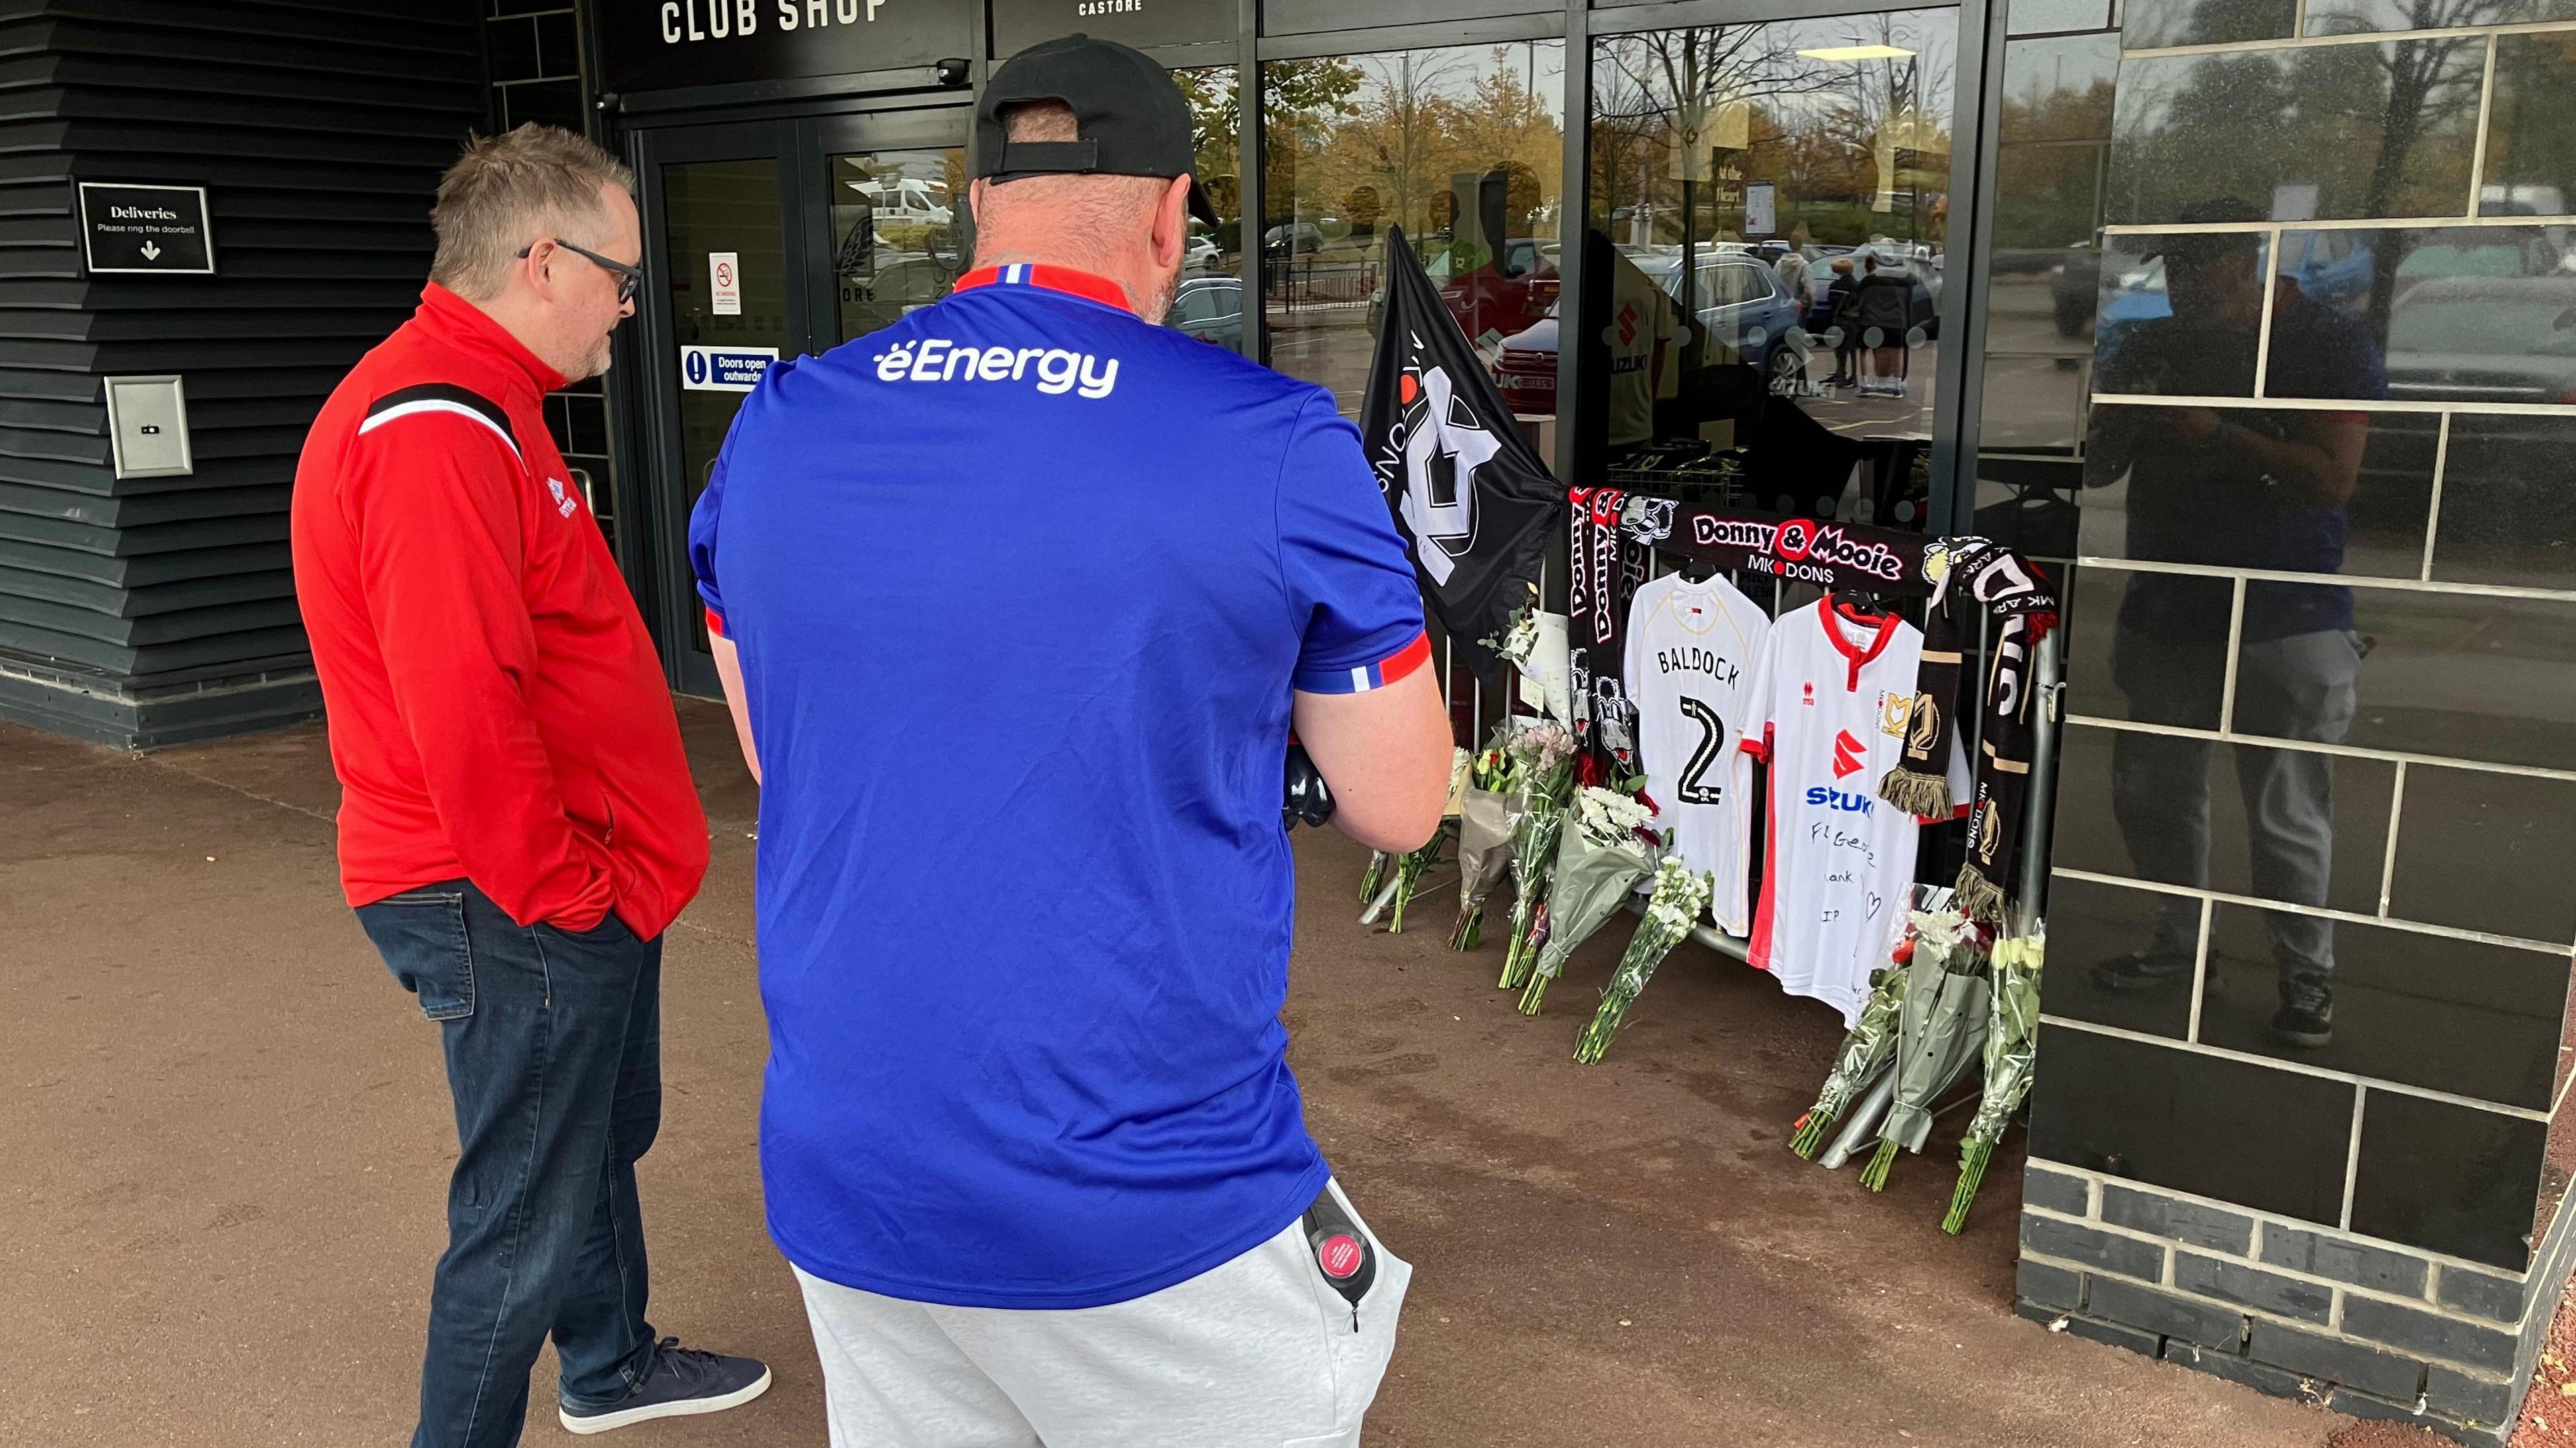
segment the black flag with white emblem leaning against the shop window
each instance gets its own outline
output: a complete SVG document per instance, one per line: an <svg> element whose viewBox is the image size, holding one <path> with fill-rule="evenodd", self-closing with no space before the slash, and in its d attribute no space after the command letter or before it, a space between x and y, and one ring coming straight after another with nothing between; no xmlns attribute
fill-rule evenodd
<svg viewBox="0 0 2576 1448"><path fill-rule="evenodd" d="M1530 598L1566 490L1520 435L1396 227L1386 229L1386 312L1360 446L1425 598L1484 672L1494 657L1484 639L1502 636Z"/></svg>

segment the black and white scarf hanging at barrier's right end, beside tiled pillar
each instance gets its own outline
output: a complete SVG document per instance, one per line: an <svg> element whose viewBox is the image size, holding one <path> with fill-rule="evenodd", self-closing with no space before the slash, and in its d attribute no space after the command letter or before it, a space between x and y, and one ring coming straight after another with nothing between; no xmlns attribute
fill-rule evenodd
<svg viewBox="0 0 2576 1448"><path fill-rule="evenodd" d="M2032 680L2040 639L2058 624L2058 600L2038 569L1989 538L1950 538L1947 572L1924 613L1922 665L1914 670L1914 711L1906 721L1906 757L1878 781L1878 799L1942 819L1950 799L1950 739L1960 701L1960 660L1973 631L1971 611L1999 618L1994 662L1986 670L1984 747L1976 757L1976 799L1968 809L1968 861L1958 868L1958 907L1976 920L2004 920L2014 850L2022 832L2022 796L2030 786Z"/></svg>

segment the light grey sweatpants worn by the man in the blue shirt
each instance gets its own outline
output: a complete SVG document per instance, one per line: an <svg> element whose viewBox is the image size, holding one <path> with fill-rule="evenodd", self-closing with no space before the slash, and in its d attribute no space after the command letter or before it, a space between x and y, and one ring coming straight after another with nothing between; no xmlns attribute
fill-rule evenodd
<svg viewBox="0 0 2576 1448"><path fill-rule="evenodd" d="M1332 1188L1342 1196L1342 1188ZM935 1306L804 1270L832 1448L1358 1448L1414 1268L1350 1301L1301 1224L1110 1306Z"/></svg>

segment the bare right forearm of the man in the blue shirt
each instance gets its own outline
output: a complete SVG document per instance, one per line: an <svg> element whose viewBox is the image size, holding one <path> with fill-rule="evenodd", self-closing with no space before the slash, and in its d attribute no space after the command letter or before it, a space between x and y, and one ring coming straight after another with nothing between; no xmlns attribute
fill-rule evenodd
<svg viewBox="0 0 2576 1448"><path fill-rule="evenodd" d="M1296 696L1296 739L1332 786L1332 822L1370 850L1419 850L1448 804L1450 721L1440 670L1368 693Z"/></svg>

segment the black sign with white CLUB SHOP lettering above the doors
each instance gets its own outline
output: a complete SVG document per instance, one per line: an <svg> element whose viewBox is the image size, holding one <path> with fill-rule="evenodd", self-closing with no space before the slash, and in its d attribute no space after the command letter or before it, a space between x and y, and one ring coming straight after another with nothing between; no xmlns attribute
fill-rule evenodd
<svg viewBox="0 0 2576 1448"><path fill-rule="evenodd" d="M603 0L605 90L902 70L971 54L956 0Z"/></svg>

